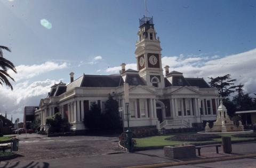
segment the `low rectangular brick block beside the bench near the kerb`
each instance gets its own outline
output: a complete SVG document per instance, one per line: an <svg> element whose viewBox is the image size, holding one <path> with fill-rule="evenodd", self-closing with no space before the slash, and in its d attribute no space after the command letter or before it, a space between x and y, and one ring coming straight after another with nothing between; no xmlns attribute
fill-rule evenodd
<svg viewBox="0 0 256 168"><path fill-rule="evenodd" d="M175 159L196 157L196 147L195 145L176 147L165 146L164 155Z"/></svg>

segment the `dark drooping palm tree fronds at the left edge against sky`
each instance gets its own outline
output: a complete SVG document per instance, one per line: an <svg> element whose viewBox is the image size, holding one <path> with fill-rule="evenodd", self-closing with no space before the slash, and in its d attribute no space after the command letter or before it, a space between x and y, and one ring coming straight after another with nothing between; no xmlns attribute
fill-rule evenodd
<svg viewBox="0 0 256 168"><path fill-rule="evenodd" d="M12 81L14 81L14 79L7 73L7 70L10 68L14 73L17 73L17 70L11 61L3 57L3 50L11 52L8 47L0 45L0 84L3 85L5 83L13 90L12 84L9 82L8 78L12 79Z"/></svg>

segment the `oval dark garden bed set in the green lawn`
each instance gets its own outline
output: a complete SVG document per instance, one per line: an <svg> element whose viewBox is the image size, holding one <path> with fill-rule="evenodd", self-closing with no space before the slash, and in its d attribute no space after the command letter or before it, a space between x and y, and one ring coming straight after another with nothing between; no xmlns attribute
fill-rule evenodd
<svg viewBox="0 0 256 168"><path fill-rule="evenodd" d="M210 141L214 138L221 138L220 135L213 134L183 134L183 135L175 135L170 138L166 138L165 140L169 141Z"/></svg>

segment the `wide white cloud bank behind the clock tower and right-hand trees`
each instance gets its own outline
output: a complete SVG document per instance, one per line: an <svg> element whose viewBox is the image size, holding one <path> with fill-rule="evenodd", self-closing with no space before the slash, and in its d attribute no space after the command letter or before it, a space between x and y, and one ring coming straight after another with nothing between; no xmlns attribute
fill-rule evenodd
<svg viewBox="0 0 256 168"><path fill-rule="evenodd" d="M227 55L220 58L219 55L203 55L202 57L179 56L163 57L162 67L170 66L170 71L177 70L185 77L217 77L231 74L231 78L237 79L236 84L244 84L244 90L248 93L256 93L256 49ZM136 63L126 65L126 69L137 69ZM107 73L117 73L120 66L106 69Z"/></svg>

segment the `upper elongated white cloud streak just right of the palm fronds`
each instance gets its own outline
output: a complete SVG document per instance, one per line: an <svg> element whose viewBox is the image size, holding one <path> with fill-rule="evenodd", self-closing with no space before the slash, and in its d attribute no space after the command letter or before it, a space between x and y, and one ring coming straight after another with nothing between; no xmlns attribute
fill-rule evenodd
<svg viewBox="0 0 256 168"><path fill-rule="evenodd" d="M15 79L16 82L21 79L29 79L37 75L47 73L52 70L67 68L66 62L56 63L56 62L44 62L41 65L19 65L16 67L17 74L9 70L8 73Z"/></svg>

